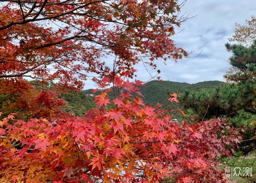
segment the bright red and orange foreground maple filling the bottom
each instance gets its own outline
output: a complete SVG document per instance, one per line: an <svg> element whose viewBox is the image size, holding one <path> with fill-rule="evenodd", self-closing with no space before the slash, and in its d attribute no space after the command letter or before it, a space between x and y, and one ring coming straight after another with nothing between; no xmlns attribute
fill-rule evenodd
<svg viewBox="0 0 256 183"><path fill-rule="evenodd" d="M141 81L113 80L116 98L106 89L83 117L0 120L1 182L225 182L215 157L231 156L242 138L237 129L219 119L177 124L161 105L130 95Z"/></svg>

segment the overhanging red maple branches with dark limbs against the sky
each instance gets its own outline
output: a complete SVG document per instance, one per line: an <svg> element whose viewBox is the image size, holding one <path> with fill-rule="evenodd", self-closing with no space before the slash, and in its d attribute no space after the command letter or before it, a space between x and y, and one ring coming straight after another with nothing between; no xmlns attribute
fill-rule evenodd
<svg viewBox="0 0 256 183"><path fill-rule="evenodd" d="M31 77L81 89L91 73L112 75L112 69L132 76L139 61L155 68L156 59L187 56L170 39L174 26L187 19L179 17L176 0L1 2L0 78ZM113 68L105 60L114 60Z"/></svg>

